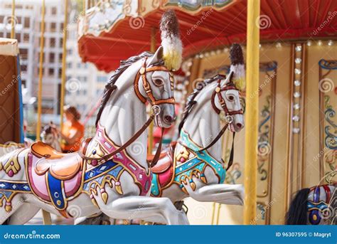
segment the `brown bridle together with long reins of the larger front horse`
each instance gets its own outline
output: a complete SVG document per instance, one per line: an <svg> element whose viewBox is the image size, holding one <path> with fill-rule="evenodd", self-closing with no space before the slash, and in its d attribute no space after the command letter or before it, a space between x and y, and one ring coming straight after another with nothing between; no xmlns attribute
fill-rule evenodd
<svg viewBox="0 0 337 244"><path fill-rule="evenodd" d="M146 97L141 95L141 92L139 91L139 85L138 85L138 80L141 77L144 90L149 97L149 102L152 105L152 108L151 108L152 112L151 112L151 115L150 115L149 119L146 120L145 124L127 142L122 144L121 147L114 150L114 152L106 154L103 157L95 158L95 157L85 156L85 151L86 151L86 147L87 147L87 143L88 143L87 140L85 140L85 142L83 143L85 145L84 146L82 145L81 149L78 151L78 154L80 154L80 157L82 157L82 159L97 160L97 161L102 161L102 160L107 161L108 159L111 159L112 157L114 157L114 155L118 154L119 152L122 152L124 149L127 149L127 147L129 147L130 144L132 144L138 137L141 136L141 134L143 134L143 132L147 129L147 127L149 127L151 122L154 121L154 118L160 114L161 109L158 105L161 105L161 104L164 104L164 103L175 104L176 101L174 100L174 97L156 100L156 98L154 97L154 95L152 93L151 85L146 80L146 72L153 72L153 71L159 71L159 70L170 72L170 70L168 70L165 66L152 66L152 67L146 68L146 59L147 58L144 59L144 63L142 65L142 67L140 68L139 72L137 73L136 78L134 79L134 90L135 90L136 95L139 98L139 100L141 100L141 102L145 103ZM171 89L173 89L173 85L172 85L173 84L173 77L172 77L171 73L170 73L170 82L171 82ZM163 135L164 135L164 128L161 128L161 137L160 137L160 141L159 141L159 146L156 149L156 154L154 154L154 159L151 161L151 163L149 163L150 167L153 167L154 165L156 165L156 163L159 160L159 157L160 157L160 154L161 154L161 145L162 145L162 141L163 141L162 140Z"/></svg>

